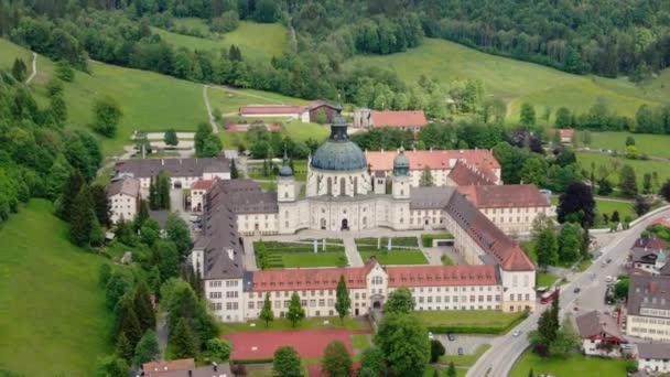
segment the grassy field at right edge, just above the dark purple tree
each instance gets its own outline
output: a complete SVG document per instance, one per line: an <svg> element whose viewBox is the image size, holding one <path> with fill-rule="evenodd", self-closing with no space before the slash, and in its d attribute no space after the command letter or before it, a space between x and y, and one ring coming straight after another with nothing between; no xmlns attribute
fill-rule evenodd
<svg viewBox="0 0 670 377"><path fill-rule="evenodd" d="M638 187L640 190L642 187L642 179L645 173L657 172L661 184L670 177L670 163L663 161L629 160L620 157L590 152L577 152L576 155L577 161L580 162L580 164L582 164L583 169L591 170L591 164L595 163L595 171L597 173L601 165L606 166L607 170L610 172L608 177L615 185L619 181L618 170L614 170L615 164L617 164L618 166L622 166L624 164L630 165L635 170Z"/></svg>

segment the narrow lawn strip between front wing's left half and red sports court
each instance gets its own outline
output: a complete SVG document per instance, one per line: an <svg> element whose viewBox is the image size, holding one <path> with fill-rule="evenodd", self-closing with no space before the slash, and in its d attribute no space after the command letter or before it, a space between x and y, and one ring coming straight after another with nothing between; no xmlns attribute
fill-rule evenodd
<svg viewBox="0 0 670 377"><path fill-rule="evenodd" d="M327 322L325 324L324 322ZM253 324L253 326L252 326ZM364 322L354 320L350 316L344 317L344 323L338 316L321 316L321 317L306 317L300 321L295 327L291 325L291 321L285 319L275 317L274 321L270 322L270 325L266 327L263 321L248 321L245 323L220 323L219 327L224 334L235 332L259 332L259 331L273 331L273 330L313 330L313 328L347 328L347 330L361 330L367 328Z"/></svg>

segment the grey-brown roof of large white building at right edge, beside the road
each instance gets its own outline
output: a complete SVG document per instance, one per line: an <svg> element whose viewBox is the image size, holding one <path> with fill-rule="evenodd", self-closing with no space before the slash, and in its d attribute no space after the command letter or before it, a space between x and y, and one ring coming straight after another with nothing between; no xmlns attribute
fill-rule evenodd
<svg viewBox="0 0 670 377"><path fill-rule="evenodd" d="M670 277L630 276L628 315L640 315L640 309L670 310Z"/></svg>

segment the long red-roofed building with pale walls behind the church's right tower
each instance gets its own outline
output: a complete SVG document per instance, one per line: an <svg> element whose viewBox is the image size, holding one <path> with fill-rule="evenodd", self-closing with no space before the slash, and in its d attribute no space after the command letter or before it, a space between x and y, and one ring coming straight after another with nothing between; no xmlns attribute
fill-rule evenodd
<svg viewBox="0 0 670 377"><path fill-rule="evenodd" d="M469 150L412 150L403 151L409 160L410 185L418 187L428 170L434 186L469 184L502 184L500 164L487 149ZM370 172L378 181L374 186L385 185L393 172L393 160L398 151L366 151Z"/></svg>

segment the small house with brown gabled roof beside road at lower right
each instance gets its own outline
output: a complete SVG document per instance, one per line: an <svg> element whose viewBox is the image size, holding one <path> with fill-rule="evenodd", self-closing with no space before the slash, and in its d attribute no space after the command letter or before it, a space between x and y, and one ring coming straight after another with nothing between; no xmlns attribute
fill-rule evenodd
<svg viewBox="0 0 670 377"><path fill-rule="evenodd" d="M619 345L625 342L616 321L598 311L575 319L582 338L582 351L588 356L619 356Z"/></svg>

